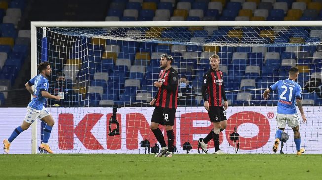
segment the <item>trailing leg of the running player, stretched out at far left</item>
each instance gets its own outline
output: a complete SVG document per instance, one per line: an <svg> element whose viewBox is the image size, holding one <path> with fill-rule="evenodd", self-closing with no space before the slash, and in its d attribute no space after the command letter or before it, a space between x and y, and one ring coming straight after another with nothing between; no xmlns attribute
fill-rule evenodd
<svg viewBox="0 0 322 180"><path fill-rule="evenodd" d="M27 108L27 114L22 124L13 130L8 139L3 140L3 150L5 153L9 153L11 142L16 139L20 133L22 133L24 130L27 130L31 123L34 122L34 120L38 117L38 115L38 112L31 111L31 108Z"/></svg>

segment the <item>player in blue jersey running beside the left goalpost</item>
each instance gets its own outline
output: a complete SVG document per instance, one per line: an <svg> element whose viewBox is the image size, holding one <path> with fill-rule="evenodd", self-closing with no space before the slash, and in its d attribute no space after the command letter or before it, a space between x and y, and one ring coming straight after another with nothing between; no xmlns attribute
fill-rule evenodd
<svg viewBox="0 0 322 180"><path fill-rule="evenodd" d="M3 140L4 144L4 152L9 153L9 148L11 142L20 134L22 131L29 128L29 126L37 119L44 121L47 123L44 129L43 143L40 145L40 149L46 150L49 153L53 153L50 150L48 145L48 140L50 137L51 129L55 124L53 117L48 112L48 110L44 106L44 102L46 98L59 100L60 96L51 95L48 92L49 83L47 78L51 74L51 68L49 62L42 62L37 67L40 72L39 75L30 79L26 84L26 89L30 94L33 95L33 99L30 101L27 107L27 114L25 119L22 122L22 125L18 126L11 134L8 139ZM34 85L34 88L32 87Z"/></svg>

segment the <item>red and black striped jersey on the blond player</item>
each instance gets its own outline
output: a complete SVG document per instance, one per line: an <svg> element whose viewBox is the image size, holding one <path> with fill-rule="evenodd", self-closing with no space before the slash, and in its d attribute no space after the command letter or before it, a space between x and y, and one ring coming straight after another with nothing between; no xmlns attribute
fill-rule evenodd
<svg viewBox="0 0 322 180"><path fill-rule="evenodd" d="M202 94L204 101L208 101L209 106L222 106L222 99L226 101L222 72L212 68L204 75L202 84ZM208 97L207 97L208 96Z"/></svg>

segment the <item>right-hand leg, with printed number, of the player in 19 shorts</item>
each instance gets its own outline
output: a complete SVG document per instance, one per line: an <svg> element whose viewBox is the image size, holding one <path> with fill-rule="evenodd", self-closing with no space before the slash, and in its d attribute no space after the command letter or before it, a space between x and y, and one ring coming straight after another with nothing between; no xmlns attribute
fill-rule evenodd
<svg viewBox="0 0 322 180"><path fill-rule="evenodd" d="M176 109L163 109L163 123L168 137L168 150L165 157L172 157L172 151L175 141L175 133L173 132L173 125L175 122Z"/></svg>

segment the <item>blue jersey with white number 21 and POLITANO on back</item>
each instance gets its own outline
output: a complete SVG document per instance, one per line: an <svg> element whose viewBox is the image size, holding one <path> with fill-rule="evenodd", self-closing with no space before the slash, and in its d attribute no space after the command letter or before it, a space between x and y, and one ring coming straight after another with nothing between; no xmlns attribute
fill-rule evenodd
<svg viewBox="0 0 322 180"><path fill-rule="evenodd" d="M279 80L270 87L270 90L279 91L279 102L277 103L277 113L296 114L296 99L302 99L302 88L295 81L286 79Z"/></svg>

